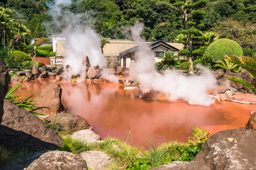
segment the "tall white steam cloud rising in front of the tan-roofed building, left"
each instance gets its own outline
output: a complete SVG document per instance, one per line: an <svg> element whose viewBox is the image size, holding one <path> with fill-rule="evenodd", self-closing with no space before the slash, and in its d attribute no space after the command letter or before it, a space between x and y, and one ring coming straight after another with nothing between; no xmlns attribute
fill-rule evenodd
<svg viewBox="0 0 256 170"><path fill-rule="evenodd" d="M100 36L91 28L93 23L90 13L72 13L67 8L71 5L71 0L54 0L53 4L48 4L53 23L60 32L60 36L65 37L63 44L65 50L63 61L65 79L70 80L72 75L81 75L82 80L86 80L85 66L82 64L85 55L88 56L91 66L98 65L100 68L106 67L106 60L101 53ZM63 10L64 9L64 10ZM70 67L65 68L66 65ZM103 69L103 72L106 69ZM110 79L118 83L118 78L114 79L109 71L102 73L103 78Z"/></svg>

